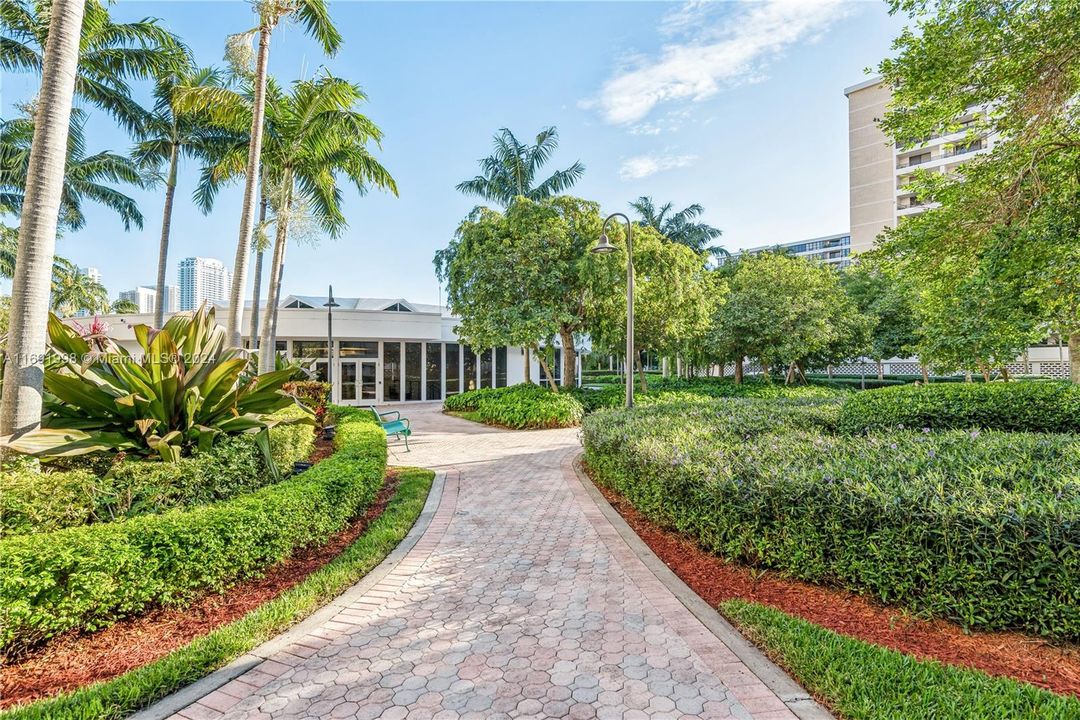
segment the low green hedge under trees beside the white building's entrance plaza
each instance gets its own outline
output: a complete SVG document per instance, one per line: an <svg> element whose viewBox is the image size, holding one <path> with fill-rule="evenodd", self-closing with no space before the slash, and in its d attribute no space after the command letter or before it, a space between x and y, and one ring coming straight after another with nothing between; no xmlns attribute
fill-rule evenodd
<svg viewBox="0 0 1080 720"><path fill-rule="evenodd" d="M451 412L476 412L481 422L515 429L572 427L585 415L570 393L529 383L450 395L443 407Z"/></svg>

